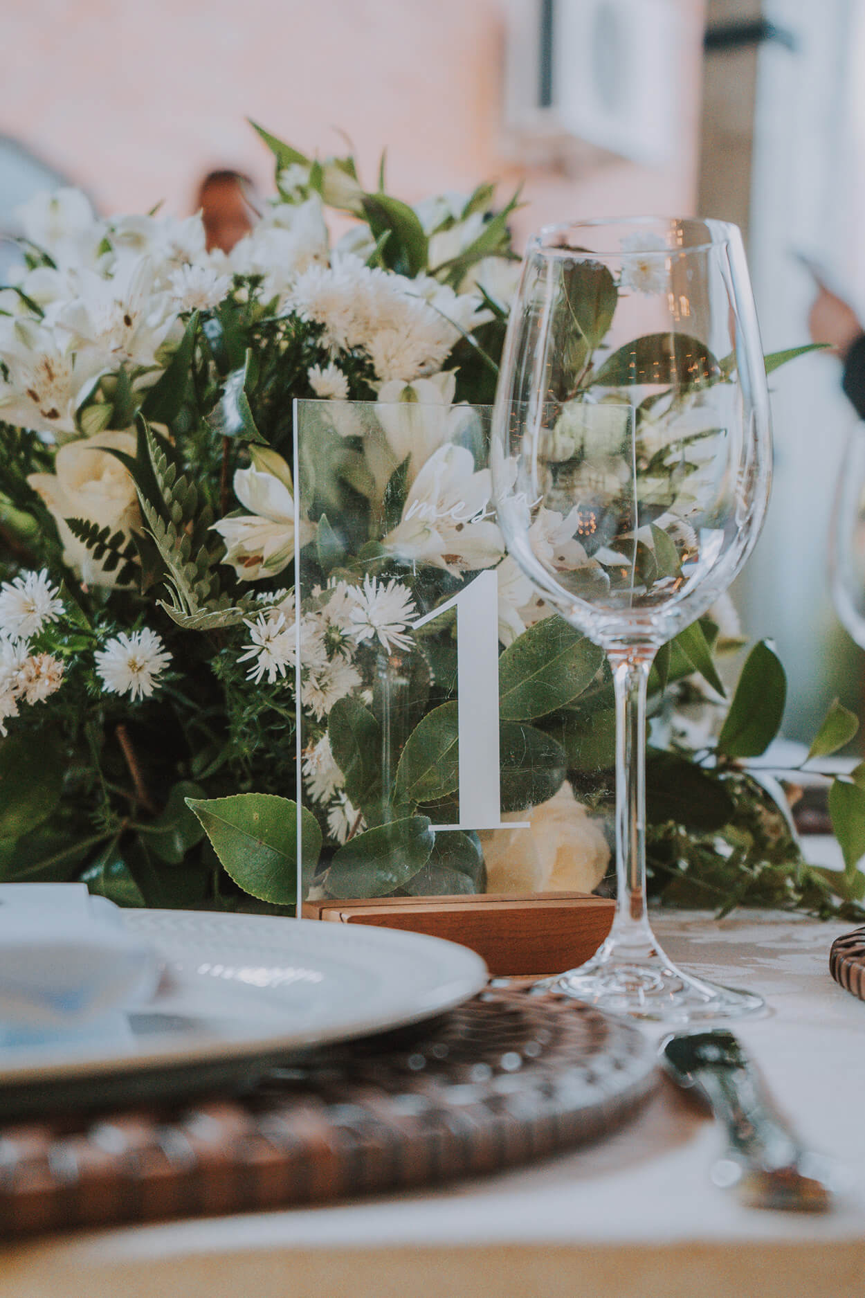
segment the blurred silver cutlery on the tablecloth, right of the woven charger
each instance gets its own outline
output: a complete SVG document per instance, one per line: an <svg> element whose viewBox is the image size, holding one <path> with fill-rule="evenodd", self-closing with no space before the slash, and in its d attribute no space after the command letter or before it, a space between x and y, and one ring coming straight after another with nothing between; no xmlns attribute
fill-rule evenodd
<svg viewBox="0 0 865 1298"><path fill-rule="evenodd" d="M844 1188L844 1168L805 1149L776 1108L741 1042L724 1028L665 1037L669 1077L703 1098L724 1124L728 1149L711 1169L748 1207L825 1212Z"/></svg>

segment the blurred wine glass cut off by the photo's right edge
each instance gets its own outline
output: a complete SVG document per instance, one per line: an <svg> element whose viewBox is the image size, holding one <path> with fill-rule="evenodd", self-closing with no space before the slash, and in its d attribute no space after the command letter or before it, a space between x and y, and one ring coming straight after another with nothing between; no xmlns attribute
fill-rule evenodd
<svg viewBox="0 0 865 1298"><path fill-rule="evenodd" d="M829 537L833 601L842 626L865 649L865 431L856 423L838 474Z"/></svg>

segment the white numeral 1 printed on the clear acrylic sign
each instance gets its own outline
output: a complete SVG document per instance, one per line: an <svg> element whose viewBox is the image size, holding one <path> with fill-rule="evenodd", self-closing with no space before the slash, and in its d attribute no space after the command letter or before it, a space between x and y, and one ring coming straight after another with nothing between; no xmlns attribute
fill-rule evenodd
<svg viewBox="0 0 865 1298"><path fill-rule="evenodd" d="M414 623L415 630L456 609L456 742L459 823L433 829L528 828L502 822L498 702L498 578L481 572L453 600Z"/></svg>

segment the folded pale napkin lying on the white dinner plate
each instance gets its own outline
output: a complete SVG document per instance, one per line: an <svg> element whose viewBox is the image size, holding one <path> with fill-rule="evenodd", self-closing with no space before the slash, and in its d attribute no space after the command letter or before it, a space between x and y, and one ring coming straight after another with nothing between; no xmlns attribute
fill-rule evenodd
<svg viewBox="0 0 865 1298"><path fill-rule="evenodd" d="M0 1037L99 1023L158 981L156 950L84 884L0 884Z"/></svg>

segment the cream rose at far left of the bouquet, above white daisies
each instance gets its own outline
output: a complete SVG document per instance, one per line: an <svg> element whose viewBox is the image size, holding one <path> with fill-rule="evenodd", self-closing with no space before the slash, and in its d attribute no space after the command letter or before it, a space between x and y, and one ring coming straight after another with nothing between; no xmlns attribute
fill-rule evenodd
<svg viewBox="0 0 865 1298"><path fill-rule="evenodd" d="M106 572L105 559L96 562L87 546L73 536L66 519L83 518L126 536L141 527L135 483L108 448L135 456L135 434L97 432L93 437L67 441L57 452L53 474L31 474L27 479L57 522L64 562L86 585L113 587L119 569Z"/></svg>

